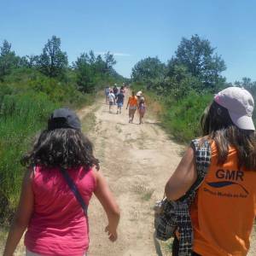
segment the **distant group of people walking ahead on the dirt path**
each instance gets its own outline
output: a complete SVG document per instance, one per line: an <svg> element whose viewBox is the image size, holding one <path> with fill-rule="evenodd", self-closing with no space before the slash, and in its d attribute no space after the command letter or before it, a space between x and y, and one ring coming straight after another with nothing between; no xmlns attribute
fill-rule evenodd
<svg viewBox="0 0 256 256"><path fill-rule="evenodd" d="M121 113L125 101L125 86L121 86L120 89L117 84L114 84L113 88L107 86L105 88L106 104L109 104L109 113L112 113L113 105L117 106L117 114ZM129 108L129 123L133 123L136 110L139 113L139 124L143 124L143 118L146 112L146 104L143 96L143 91L139 90L131 92L129 96L126 109Z"/></svg>

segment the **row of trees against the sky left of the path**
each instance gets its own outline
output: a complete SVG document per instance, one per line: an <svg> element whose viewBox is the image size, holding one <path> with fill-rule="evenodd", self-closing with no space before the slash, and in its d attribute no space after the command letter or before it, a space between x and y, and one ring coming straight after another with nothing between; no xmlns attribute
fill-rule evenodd
<svg viewBox="0 0 256 256"><path fill-rule="evenodd" d="M48 39L40 55L16 55L7 40L0 47L1 82L15 69L26 68L61 81L73 77L78 90L91 93L96 90L99 81L123 79L113 69L115 64L116 61L109 51L104 55L95 55L90 50L89 53L81 53L72 65L68 65L67 53L61 50L61 38L56 36Z"/></svg>

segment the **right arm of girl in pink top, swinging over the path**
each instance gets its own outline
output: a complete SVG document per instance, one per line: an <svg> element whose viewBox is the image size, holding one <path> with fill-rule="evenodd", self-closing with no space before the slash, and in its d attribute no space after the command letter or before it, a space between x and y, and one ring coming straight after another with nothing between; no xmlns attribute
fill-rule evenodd
<svg viewBox="0 0 256 256"><path fill-rule="evenodd" d="M95 195L97 199L101 202L102 207L108 216L108 226L106 230L108 232L109 240L116 241L117 240L117 227L119 224L120 212L119 206L115 201L109 187L108 183L103 177L101 172L94 171L96 177L96 190Z"/></svg>

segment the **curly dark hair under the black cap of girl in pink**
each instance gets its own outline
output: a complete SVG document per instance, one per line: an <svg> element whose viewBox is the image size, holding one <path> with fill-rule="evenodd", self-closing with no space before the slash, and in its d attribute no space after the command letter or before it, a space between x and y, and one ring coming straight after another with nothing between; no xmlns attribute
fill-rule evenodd
<svg viewBox="0 0 256 256"><path fill-rule="evenodd" d="M32 151L21 159L21 164L49 168L99 168L99 160L93 155L93 144L90 140L81 131L68 128L42 131L36 138Z"/></svg>

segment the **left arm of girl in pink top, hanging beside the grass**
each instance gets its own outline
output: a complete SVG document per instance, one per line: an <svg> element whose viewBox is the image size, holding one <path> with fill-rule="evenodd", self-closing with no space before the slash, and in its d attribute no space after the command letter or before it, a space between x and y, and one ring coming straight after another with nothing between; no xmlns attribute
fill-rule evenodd
<svg viewBox="0 0 256 256"><path fill-rule="evenodd" d="M32 171L27 171L22 183L20 202L4 248L3 256L12 256L33 212Z"/></svg>

